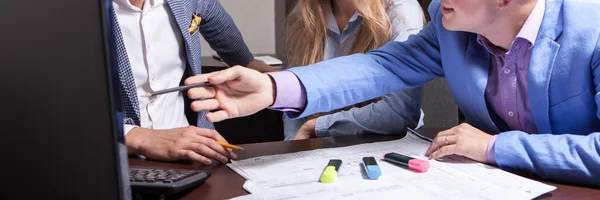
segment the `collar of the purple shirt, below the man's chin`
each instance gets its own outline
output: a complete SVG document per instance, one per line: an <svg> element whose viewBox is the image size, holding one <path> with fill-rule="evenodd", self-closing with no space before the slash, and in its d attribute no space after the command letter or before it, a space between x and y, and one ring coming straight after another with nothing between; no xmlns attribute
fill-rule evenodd
<svg viewBox="0 0 600 200"><path fill-rule="evenodd" d="M523 27L521 27L521 30L519 31L517 37L513 41L513 44L516 40L521 38L529 42L530 48L533 47L537 35L540 31L540 27L542 26L542 20L544 18L545 9L546 0L537 0L535 6L533 7L533 10L527 17L527 20L525 20ZM504 50L492 44L487 38L483 37L482 35L477 35L477 42L483 45L488 50L488 52L490 52L493 55L498 56L506 53Z"/></svg>

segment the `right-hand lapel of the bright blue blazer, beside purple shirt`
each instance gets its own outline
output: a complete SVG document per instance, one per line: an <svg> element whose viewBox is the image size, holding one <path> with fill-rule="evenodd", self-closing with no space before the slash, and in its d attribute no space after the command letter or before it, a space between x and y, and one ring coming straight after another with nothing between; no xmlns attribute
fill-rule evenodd
<svg viewBox="0 0 600 200"><path fill-rule="evenodd" d="M544 19L529 61L527 90L538 133L552 133L548 88L550 87L554 61L560 49L560 44L555 40L563 30L563 21L560 14L562 2L562 0L546 1Z"/></svg>

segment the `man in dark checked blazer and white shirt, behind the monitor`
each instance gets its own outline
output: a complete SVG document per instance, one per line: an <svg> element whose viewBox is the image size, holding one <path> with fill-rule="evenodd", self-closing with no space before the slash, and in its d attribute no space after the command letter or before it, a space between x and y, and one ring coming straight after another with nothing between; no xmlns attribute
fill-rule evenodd
<svg viewBox="0 0 600 200"><path fill-rule="evenodd" d="M143 97L202 73L200 35L227 64L273 70L254 59L219 1L112 0L110 11L128 153L207 165L235 158L216 142L226 140L206 120L206 112L188 121L183 92Z"/></svg>

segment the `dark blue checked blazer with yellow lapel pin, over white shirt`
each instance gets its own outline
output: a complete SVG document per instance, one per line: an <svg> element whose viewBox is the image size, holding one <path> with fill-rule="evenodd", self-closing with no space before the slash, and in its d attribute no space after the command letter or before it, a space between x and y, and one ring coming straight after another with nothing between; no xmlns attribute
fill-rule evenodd
<svg viewBox="0 0 600 200"><path fill-rule="evenodd" d="M242 39L240 31L235 26L231 16L227 14L218 0L166 0L175 16L185 43L188 72L191 76L202 73L200 63L200 37L224 59L230 66L250 63L254 59ZM123 123L140 125L140 108L131 65L123 42L123 35L112 10L112 30L117 51L118 74L120 82L121 109ZM188 31L192 24L192 14L202 18L201 25L193 35ZM184 77L186 78L186 77ZM198 113L197 126L214 129L214 125L206 120L207 111Z"/></svg>

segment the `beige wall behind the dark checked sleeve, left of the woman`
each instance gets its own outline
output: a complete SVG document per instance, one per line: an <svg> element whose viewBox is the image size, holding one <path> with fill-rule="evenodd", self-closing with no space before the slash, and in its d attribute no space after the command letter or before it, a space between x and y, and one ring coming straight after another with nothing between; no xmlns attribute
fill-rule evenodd
<svg viewBox="0 0 600 200"><path fill-rule="evenodd" d="M275 0L219 0L254 54L275 54ZM202 56L216 54L202 39Z"/></svg>

